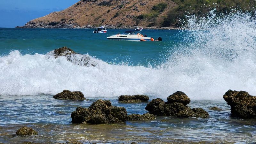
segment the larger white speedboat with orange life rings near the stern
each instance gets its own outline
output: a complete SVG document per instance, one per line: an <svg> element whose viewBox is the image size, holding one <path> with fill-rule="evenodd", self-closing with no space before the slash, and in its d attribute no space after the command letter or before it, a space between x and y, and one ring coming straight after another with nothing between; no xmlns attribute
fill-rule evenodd
<svg viewBox="0 0 256 144"><path fill-rule="evenodd" d="M125 31L123 34L108 34L107 39L117 41L154 41L153 38L141 34L143 28L137 27L135 30Z"/></svg>

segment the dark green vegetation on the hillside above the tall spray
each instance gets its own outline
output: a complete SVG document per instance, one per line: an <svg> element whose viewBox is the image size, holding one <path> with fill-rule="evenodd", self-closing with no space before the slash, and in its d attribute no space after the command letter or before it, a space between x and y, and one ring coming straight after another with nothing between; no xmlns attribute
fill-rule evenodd
<svg viewBox="0 0 256 144"><path fill-rule="evenodd" d="M163 27L180 26L179 19L184 15L201 15L208 13L216 7L218 12L230 12L237 8L242 11L256 9L256 0L172 0L178 6L172 8L162 23Z"/></svg>

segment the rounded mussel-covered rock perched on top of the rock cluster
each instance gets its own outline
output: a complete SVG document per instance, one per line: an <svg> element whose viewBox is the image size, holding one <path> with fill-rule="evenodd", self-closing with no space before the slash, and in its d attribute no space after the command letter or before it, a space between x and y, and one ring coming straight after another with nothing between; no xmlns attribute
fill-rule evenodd
<svg viewBox="0 0 256 144"><path fill-rule="evenodd" d="M167 103L172 103L172 102L180 102L180 103L183 103L184 105L187 105L190 102L190 99L185 93L181 91L177 91L167 97Z"/></svg>

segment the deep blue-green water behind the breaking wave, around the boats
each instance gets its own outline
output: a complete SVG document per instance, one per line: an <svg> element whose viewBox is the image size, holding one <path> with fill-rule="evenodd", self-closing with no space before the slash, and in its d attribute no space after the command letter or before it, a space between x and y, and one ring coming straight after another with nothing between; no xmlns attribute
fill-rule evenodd
<svg viewBox="0 0 256 144"><path fill-rule="evenodd" d="M162 42L113 42L107 39L107 34L123 33L127 29L108 29L107 34L94 34L93 30L0 28L0 54L7 55L11 50L19 50L21 54L46 54L67 46L77 53L88 53L105 62L148 65L163 61L166 50L173 43L182 41L180 30L142 31L154 39L162 37Z"/></svg>

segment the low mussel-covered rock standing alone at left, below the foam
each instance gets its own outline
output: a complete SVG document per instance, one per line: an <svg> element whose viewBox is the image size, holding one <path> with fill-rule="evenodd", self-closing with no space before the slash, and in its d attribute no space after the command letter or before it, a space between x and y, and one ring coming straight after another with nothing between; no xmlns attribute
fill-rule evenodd
<svg viewBox="0 0 256 144"><path fill-rule="evenodd" d="M85 100L82 92L71 92L69 90L63 90L63 92L54 95L53 98L60 100Z"/></svg>

